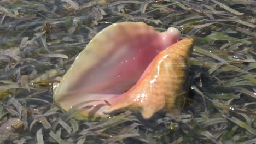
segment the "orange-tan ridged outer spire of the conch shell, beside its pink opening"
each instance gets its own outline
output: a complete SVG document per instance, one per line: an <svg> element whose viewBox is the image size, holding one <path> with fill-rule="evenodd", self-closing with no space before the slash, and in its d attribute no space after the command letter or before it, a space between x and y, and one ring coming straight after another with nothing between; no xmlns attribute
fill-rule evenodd
<svg viewBox="0 0 256 144"><path fill-rule="evenodd" d="M136 85L120 95L105 112L135 107L145 119L161 109L179 113L187 95L188 59L193 41L193 38L185 38L160 52Z"/></svg>

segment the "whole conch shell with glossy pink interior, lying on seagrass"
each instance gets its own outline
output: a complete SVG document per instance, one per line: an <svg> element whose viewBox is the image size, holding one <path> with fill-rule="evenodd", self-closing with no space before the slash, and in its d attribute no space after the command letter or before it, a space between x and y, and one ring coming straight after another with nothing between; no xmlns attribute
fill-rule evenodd
<svg viewBox="0 0 256 144"><path fill-rule="evenodd" d="M179 112L193 45L192 38L178 41L179 36L176 28L159 33L143 22L108 26L75 59L54 101L65 110L88 101L79 107L85 116L106 117L127 107L145 119L162 109Z"/></svg>

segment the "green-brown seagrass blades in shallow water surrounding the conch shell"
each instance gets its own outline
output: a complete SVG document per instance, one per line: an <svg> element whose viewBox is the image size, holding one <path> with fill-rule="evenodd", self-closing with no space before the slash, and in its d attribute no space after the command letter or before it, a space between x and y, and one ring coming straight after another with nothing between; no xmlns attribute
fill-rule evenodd
<svg viewBox="0 0 256 144"><path fill-rule="evenodd" d="M255 15L253 0L0 1L0 143L256 143ZM78 121L53 103L78 53L123 21L196 38L181 115ZM22 127L3 133L11 118Z"/></svg>

